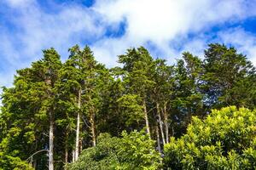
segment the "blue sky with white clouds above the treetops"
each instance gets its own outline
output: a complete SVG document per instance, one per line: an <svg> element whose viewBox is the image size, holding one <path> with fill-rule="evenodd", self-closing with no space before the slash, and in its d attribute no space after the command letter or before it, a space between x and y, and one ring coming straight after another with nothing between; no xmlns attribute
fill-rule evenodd
<svg viewBox="0 0 256 170"><path fill-rule="evenodd" d="M112 67L127 48L144 46L172 64L212 42L237 48L256 65L256 0L0 0L0 86L55 48L89 45Z"/></svg>

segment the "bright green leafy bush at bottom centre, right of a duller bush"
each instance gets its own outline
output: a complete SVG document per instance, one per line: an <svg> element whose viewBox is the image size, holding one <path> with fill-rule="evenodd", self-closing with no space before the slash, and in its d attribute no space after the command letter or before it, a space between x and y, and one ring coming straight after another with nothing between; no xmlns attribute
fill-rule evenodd
<svg viewBox="0 0 256 170"><path fill-rule="evenodd" d="M154 140L144 131L123 132L120 140L118 169L158 169L160 153L154 150Z"/></svg>

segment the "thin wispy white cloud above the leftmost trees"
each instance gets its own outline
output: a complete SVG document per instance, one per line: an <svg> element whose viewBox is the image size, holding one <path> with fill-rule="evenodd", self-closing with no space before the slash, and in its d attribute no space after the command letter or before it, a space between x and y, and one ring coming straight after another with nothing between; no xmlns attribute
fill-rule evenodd
<svg viewBox="0 0 256 170"><path fill-rule="evenodd" d="M9 65L0 69L1 86L10 85L15 70L41 58L42 49L54 47L67 57L68 48L99 37L104 31L93 11L76 4L60 6L55 13L48 13L33 0L6 0L1 5L9 8L6 18L15 26L0 26L1 58Z"/></svg>

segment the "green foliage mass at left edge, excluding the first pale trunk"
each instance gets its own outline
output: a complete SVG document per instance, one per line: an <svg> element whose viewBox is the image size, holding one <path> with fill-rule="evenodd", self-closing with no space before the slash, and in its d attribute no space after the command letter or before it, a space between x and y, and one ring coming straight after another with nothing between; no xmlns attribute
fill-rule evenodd
<svg viewBox="0 0 256 170"><path fill-rule="evenodd" d="M61 60L54 48L43 53L44 58L32 63L31 68L17 71L14 88L4 88L0 150L3 150L5 164L9 165L5 169L14 166L29 169L25 160L49 147L49 139L44 134L49 133L49 112L55 110L55 82ZM38 159L43 168L47 164L45 157L41 155Z"/></svg>

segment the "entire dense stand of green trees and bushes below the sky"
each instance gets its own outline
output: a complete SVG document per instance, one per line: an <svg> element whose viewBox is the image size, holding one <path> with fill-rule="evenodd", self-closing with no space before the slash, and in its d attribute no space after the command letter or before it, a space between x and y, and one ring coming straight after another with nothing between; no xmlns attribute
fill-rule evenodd
<svg viewBox="0 0 256 170"><path fill-rule="evenodd" d="M256 169L256 70L236 48L173 65L129 48L113 68L68 51L3 87L0 169Z"/></svg>

